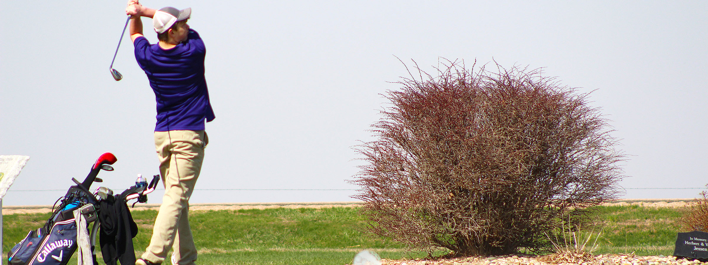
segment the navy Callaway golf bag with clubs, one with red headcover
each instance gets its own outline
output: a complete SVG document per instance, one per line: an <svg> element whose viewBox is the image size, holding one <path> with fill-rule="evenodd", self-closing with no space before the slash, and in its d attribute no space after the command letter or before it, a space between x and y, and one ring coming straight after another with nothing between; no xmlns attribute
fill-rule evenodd
<svg viewBox="0 0 708 265"><path fill-rule="evenodd" d="M8 264L64 265L69 262L79 245L83 246L83 256L91 257L89 260L83 259L84 262L97 264L94 249L96 232L100 227L98 213L101 211L101 201L113 199L113 191L99 187L96 192L91 193L89 188L93 182L103 181L96 175L101 170L113 170L110 165L116 160L118 159L112 153L103 153L91 167L91 172L84 182L72 178L76 185L70 187L67 194L57 200L61 201L61 204L55 207L44 226L28 232L25 239L8 252ZM159 175L155 175L149 185L136 184L126 189L120 198L125 198L125 201L138 199L137 202L147 202L147 194L154 191L157 182ZM90 223L93 223L93 227L89 231Z"/></svg>

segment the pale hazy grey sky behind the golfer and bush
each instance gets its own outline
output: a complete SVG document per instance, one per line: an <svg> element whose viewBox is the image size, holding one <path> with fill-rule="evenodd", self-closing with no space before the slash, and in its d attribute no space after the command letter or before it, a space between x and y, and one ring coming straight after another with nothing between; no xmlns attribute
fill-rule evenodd
<svg viewBox="0 0 708 265"><path fill-rule="evenodd" d="M707 1L143 1L192 8L217 118L193 203L351 201L352 146L416 61L545 67L589 93L631 155L625 198L708 184ZM120 192L158 172L154 94L125 1L12 1L0 27L0 154L30 155L4 205L52 204L103 152ZM156 41L152 20L145 34ZM97 187L98 185L94 186ZM28 191L28 190L50 191ZM306 189L306 190L243 190ZM334 190L316 190L334 189ZM161 194L161 192L160 192ZM159 203L161 196L149 202Z"/></svg>

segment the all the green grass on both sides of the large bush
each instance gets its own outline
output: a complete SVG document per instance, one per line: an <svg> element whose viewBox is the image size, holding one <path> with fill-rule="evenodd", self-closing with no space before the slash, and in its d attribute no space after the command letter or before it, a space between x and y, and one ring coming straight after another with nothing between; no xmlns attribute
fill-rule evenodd
<svg viewBox="0 0 708 265"><path fill-rule="evenodd" d="M605 228L600 233L595 254L673 254L680 209L598 208ZM156 211L133 212L139 228L134 239L137 254L147 247L156 214ZM48 217L48 213L4 216L3 257L28 230L40 227ZM406 253L404 246L396 242L361 232L358 228L364 221L356 208L190 213L195 243L200 249L199 264L349 264L357 252L369 248L384 259L426 256Z"/></svg>

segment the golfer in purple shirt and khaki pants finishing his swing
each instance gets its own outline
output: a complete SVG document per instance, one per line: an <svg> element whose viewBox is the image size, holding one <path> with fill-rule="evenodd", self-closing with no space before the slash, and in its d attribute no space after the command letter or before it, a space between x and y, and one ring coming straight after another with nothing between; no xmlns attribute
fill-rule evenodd
<svg viewBox="0 0 708 265"><path fill-rule="evenodd" d="M130 39L135 59L157 101L154 138L165 195L157 213L150 245L136 265L161 264L173 249L172 264L192 265L197 249L189 227L189 198L199 177L209 139L205 123L214 119L204 77L205 46L189 28L191 8L147 8L129 1ZM142 34L142 20L152 18L159 42Z"/></svg>

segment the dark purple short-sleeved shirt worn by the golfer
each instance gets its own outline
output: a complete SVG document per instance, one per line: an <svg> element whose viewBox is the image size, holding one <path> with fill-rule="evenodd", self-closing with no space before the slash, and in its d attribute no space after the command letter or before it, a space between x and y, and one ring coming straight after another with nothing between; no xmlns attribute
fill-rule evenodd
<svg viewBox="0 0 708 265"><path fill-rule="evenodd" d="M155 93L155 131L204 129L214 110L204 77L206 48L199 34L190 29L187 40L172 49L150 45L145 37L133 42L135 59L145 71Z"/></svg>

